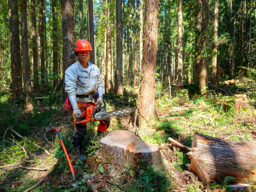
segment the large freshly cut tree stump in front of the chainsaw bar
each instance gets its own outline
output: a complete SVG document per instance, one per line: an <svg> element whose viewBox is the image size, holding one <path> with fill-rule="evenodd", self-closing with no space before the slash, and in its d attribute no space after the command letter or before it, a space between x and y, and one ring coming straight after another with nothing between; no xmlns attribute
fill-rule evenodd
<svg viewBox="0 0 256 192"><path fill-rule="evenodd" d="M101 139L103 156L109 156L122 166L130 167L137 159L147 165L164 169L163 159L158 146L141 140L134 132L114 130Z"/></svg>

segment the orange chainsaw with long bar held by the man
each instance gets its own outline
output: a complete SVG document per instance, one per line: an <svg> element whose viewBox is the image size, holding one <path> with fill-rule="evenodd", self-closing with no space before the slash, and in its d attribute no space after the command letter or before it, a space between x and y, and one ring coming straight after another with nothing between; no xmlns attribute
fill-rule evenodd
<svg viewBox="0 0 256 192"><path fill-rule="evenodd" d="M86 109L82 112L84 119L75 122L77 124L80 124L94 121L102 121L105 120L107 117L121 116L133 112L135 112L135 109L133 107L106 112L106 103L104 101L104 107L100 107L99 104L97 106L91 105L86 107Z"/></svg>

